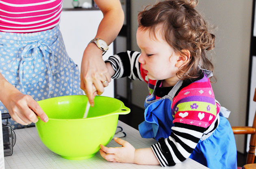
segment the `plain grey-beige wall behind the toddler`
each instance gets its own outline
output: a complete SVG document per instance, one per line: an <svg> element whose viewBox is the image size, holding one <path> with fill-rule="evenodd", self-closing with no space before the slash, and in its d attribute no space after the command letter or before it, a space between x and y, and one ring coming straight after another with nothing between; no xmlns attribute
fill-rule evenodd
<svg viewBox="0 0 256 169"><path fill-rule="evenodd" d="M136 43L137 15L141 6L155 0L132 0L132 50L138 50ZM252 0L200 0L197 9L205 18L217 26L213 54L213 84L215 97L232 113L228 120L231 125L245 125L247 83L249 70L249 46L252 21ZM137 94L139 93L139 94ZM143 107L148 90L144 82L134 81L132 103ZM244 136L235 136L240 152L244 148Z"/></svg>

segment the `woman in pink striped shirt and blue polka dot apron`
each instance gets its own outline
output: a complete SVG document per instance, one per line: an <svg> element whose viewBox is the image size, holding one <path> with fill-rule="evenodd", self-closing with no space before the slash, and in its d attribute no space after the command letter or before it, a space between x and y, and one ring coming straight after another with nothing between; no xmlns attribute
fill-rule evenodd
<svg viewBox="0 0 256 169"><path fill-rule="evenodd" d="M36 123L36 115L48 121L36 102L40 99L82 94L78 67L67 56L59 31L62 3L63 0L0 2L0 110L9 112L16 121L11 121L13 128ZM96 38L109 44L123 24L121 4L119 0L95 3L104 14ZM101 55L95 44L89 44L82 72L92 60L104 64Z"/></svg>

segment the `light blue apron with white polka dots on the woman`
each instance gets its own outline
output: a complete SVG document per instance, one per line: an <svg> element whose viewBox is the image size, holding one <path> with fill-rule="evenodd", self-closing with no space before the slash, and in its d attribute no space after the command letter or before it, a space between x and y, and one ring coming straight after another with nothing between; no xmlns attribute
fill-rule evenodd
<svg viewBox="0 0 256 169"><path fill-rule="evenodd" d="M78 65L67 55L59 26L26 34L0 32L0 73L35 101L83 94ZM8 112L2 102L0 111ZM13 129L35 125L8 121Z"/></svg>

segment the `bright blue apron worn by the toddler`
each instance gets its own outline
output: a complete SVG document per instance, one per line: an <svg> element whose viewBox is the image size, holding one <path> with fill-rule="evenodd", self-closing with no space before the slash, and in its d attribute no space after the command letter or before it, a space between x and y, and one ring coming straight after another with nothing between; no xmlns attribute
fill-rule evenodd
<svg viewBox="0 0 256 169"><path fill-rule="evenodd" d="M206 71L204 71L206 72ZM167 138L171 134L174 120L171 114L171 104L174 94L182 82L177 82L169 97L155 100L154 92L146 98L145 121L139 125L139 132L143 138ZM225 117L229 116L228 110L221 107L219 112L219 126L212 135L205 140L200 140L189 158L205 165L210 169L236 169L236 143L230 123ZM225 117L223 117L225 116Z"/></svg>

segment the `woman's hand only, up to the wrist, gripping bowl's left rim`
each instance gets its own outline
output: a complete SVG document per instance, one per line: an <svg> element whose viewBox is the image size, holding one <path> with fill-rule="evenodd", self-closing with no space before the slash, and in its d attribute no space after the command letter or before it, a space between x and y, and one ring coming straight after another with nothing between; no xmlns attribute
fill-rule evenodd
<svg viewBox="0 0 256 169"><path fill-rule="evenodd" d="M24 95L20 91L9 93L4 106L8 109L13 120L22 125L28 125L32 122L36 123L38 121L37 115L44 122L48 121L47 115L39 104L30 95Z"/></svg>

